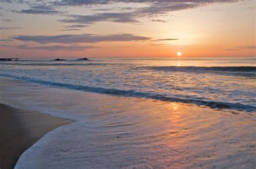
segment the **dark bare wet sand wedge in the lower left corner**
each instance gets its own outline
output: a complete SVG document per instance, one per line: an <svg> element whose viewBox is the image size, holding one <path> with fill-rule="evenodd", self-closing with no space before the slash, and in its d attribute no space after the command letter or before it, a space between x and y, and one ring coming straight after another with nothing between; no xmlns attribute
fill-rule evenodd
<svg viewBox="0 0 256 169"><path fill-rule="evenodd" d="M57 127L71 120L0 104L0 168L14 168L19 156Z"/></svg>

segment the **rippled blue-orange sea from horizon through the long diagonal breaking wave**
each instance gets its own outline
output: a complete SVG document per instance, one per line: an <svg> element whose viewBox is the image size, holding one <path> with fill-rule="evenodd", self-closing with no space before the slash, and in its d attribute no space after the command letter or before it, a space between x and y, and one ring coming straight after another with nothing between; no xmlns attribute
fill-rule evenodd
<svg viewBox="0 0 256 169"><path fill-rule="evenodd" d="M256 110L256 58L97 58L0 63L0 76L80 91Z"/></svg>

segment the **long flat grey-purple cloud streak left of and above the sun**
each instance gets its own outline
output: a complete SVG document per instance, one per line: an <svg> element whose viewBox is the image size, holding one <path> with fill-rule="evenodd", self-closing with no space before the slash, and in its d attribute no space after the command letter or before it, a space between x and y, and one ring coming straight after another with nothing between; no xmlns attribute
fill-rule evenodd
<svg viewBox="0 0 256 169"><path fill-rule="evenodd" d="M12 39L22 40L24 42L37 42L41 44L46 43L97 43L97 42L129 42L139 40L149 40L149 37L136 36L132 34L113 34L113 35L94 35L94 34L82 34L82 35L57 35L57 36L12 36Z"/></svg>

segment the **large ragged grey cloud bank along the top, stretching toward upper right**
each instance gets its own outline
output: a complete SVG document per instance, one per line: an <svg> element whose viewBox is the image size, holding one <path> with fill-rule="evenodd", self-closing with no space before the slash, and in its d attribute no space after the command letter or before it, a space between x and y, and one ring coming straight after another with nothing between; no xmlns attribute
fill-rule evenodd
<svg viewBox="0 0 256 169"><path fill-rule="evenodd" d="M148 6L143 8L127 8L126 10L132 10L130 12L104 12L96 13L93 15L70 15L68 18L59 20L64 23L78 23L78 24L92 24L95 22L120 22L120 23L137 23L137 19L142 17L152 17L163 15L167 12L193 9L198 8L210 3L230 3L237 2L238 0L156 0L156 1L145 1L145 0L134 0L134 1L79 1L79 0L63 0L58 2L59 5L97 5L97 4L109 4L109 3L145 3ZM105 10L105 9L100 9ZM155 22L165 22L160 19L153 20Z"/></svg>

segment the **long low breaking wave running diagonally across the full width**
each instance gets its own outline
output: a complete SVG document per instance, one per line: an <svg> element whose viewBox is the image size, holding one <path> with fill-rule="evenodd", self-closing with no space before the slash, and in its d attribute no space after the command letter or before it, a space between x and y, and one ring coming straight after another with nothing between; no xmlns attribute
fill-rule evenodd
<svg viewBox="0 0 256 169"><path fill-rule="evenodd" d="M119 90L119 89L105 89L102 87L91 87L91 86L82 86L82 85L73 85L68 83L59 83L59 82L51 82L46 80L34 79L29 77L19 77L14 75L6 75L0 73L0 76L3 77L11 77L15 79L25 80L31 83L43 84L48 86L56 86L56 87L63 87L67 89L79 90L79 91L86 91L86 92L95 92L95 93L102 93L102 94L111 94L113 96L123 96L123 97L137 97L137 98L150 98L156 100L163 100L166 102L181 102L181 103L188 103L188 104L196 104L196 105L204 105L211 107L213 109L233 109L233 110L242 110L242 111L256 111L256 107L252 105L245 105L240 103L225 103L225 102L216 102L211 100L200 100L200 99L186 99L186 98L177 98L177 97L166 97L161 96L156 93L147 93L147 92L140 92L134 90Z"/></svg>

